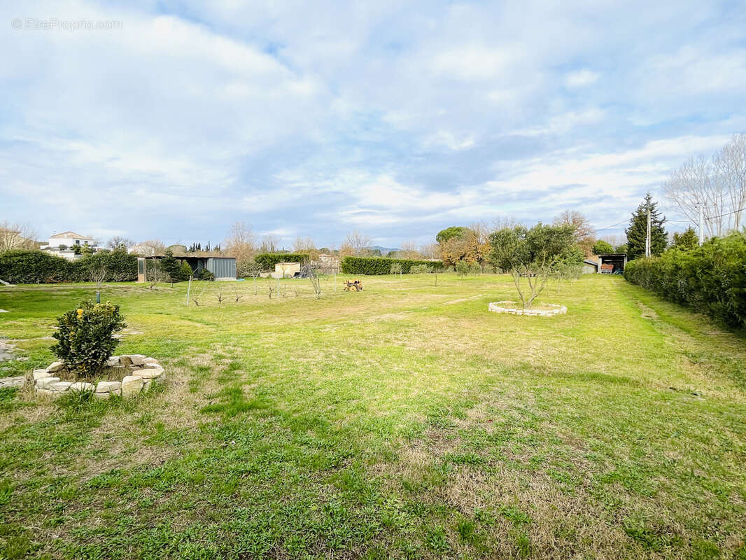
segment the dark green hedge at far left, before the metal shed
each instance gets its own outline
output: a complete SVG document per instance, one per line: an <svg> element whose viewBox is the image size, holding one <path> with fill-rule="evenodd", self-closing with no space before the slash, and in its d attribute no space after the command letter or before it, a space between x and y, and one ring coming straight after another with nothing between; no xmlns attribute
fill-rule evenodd
<svg viewBox="0 0 746 560"><path fill-rule="evenodd" d="M91 268L100 264L107 270L104 281L137 279L137 256L124 251L97 252L68 261L43 251L20 250L0 253L0 279L11 284L88 281Z"/></svg>

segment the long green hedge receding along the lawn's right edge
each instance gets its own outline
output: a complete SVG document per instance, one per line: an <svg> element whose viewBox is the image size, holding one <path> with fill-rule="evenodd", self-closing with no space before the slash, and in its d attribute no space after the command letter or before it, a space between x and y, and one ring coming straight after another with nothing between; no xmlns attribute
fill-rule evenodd
<svg viewBox="0 0 746 560"><path fill-rule="evenodd" d="M638 258L627 263L624 278L727 326L746 327L746 233Z"/></svg>

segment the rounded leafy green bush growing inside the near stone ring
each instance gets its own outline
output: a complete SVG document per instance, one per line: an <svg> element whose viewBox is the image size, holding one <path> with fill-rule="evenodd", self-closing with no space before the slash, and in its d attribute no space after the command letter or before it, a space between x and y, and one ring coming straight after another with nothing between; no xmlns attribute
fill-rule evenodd
<svg viewBox="0 0 746 560"><path fill-rule="evenodd" d="M57 343L51 351L78 376L93 376L101 370L119 344L113 335L125 328L119 305L89 300L80 308L57 318Z"/></svg>

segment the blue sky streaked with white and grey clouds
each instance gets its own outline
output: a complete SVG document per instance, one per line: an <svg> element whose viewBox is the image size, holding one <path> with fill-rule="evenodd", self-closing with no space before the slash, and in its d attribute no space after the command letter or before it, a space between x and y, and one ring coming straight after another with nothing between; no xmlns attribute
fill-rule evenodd
<svg viewBox="0 0 746 560"><path fill-rule="evenodd" d="M746 129L744 1L239 4L2 2L0 220L400 246L571 208L619 234L647 190L680 220L669 170Z"/></svg>

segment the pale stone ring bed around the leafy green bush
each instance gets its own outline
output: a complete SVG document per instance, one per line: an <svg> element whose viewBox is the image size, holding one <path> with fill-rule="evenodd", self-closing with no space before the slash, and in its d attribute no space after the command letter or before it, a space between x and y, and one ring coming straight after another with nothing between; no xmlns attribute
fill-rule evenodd
<svg viewBox="0 0 746 560"><path fill-rule="evenodd" d="M57 398L69 391L93 391L96 399L108 399L112 395L128 399L140 394L154 379L165 379L163 367L158 361L142 354L112 356L106 362L102 379L95 382L62 381L54 375L64 371L65 366L61 361L55 361L44 370L34 370L34 391L37 396ZM107 375L117 379L107 380Z"/></svg>

